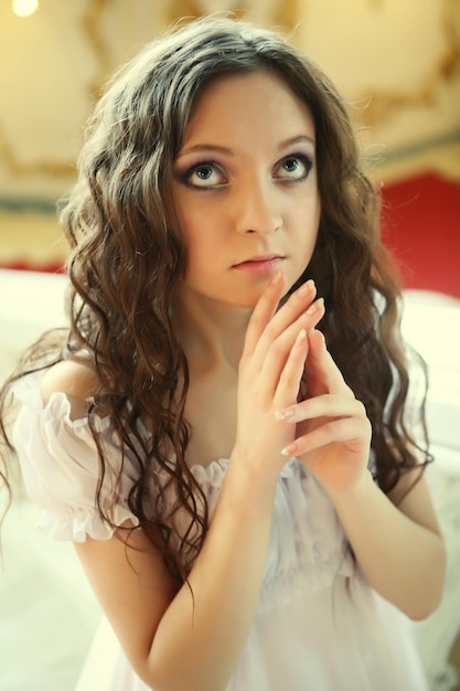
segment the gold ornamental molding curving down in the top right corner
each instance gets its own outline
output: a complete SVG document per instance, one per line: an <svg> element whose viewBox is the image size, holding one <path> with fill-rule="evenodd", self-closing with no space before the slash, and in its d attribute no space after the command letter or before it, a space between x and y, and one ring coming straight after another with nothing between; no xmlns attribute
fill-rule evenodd
<svg viewBox="0 0 460 691"><path fill-rule="evenodd" d="M458 9L458 0L445 0L442 24L446 49L419 88L413 94L376 91L367 95L367 105L362 113L364 126L374 128L403 108L430 106L436 103L439 84L449 82L460 73L460 32L456 19Z"/></svg>

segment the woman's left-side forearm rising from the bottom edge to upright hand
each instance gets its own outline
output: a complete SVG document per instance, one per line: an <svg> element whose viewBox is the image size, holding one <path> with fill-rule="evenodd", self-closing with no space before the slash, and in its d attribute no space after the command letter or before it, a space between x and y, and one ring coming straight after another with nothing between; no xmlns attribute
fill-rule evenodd
<svg viewBox="0 0 460 691"><path fill-rule="evenodd" d="M149 668L159 691L225 689L259 596L276 479L258 487L229 464L202 551L164 613ZM180 662L178 662L180 660Z"/></svg>

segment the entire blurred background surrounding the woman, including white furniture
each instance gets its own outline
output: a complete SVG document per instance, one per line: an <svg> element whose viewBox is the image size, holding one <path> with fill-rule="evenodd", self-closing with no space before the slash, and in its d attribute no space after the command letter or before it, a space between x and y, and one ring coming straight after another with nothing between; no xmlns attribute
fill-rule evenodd
<svg viewBox="0 0 460 691"><path fill-rule="evenodd" d="M0 380L40 331L64 323L66 244L56 201L75 181L84 124L105 81L176 19L218 11L289 33L325 70L382 190L383 238L405 288L404 333L430 371L427 412L438 463L429 479L449 553L443 603L414 635L431 691L453 691L460 688L460 0L0 0ZM71 691L99 618L72 545L47 540L35 518L36 508L19 495L3 527L0 691Z"/></svg>

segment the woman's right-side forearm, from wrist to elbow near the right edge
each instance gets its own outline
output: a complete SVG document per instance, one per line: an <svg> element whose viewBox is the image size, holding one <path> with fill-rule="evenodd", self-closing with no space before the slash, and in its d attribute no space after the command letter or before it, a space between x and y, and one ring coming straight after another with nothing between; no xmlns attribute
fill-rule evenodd
<svg viewBox="0 0 460 691"><path fill-rule="evenodd" d="M371 585L410 618L427 617L439 605L446 570L437 530L396 508L368 471L352 490L330 497Z"/></svg>

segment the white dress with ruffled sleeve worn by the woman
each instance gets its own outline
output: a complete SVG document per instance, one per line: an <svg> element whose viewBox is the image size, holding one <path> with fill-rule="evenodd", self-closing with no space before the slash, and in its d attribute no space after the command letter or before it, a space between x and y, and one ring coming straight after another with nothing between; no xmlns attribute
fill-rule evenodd
<svg viewBox="0 0 460 691"><path fill-rule="evenodd" d="M71 421L55 393L46 407L38 375L15 385L22 401L13 440L40 524L57 540L110 538L95 509L97 453L86 419ZM104 432L106 422L99 421ZM114 446L114 453L116 453ZM215 507L227 467L194 466ZM128 489L133 476L126 469ZM120 501L115 522L130 518ZM276 490L271 535L254 623L227 691L427 691L408 619L355 566L334 509L291 458ZM104 620L76 691L149 691ZM184 690L186 691L186 690Z"/></svg>

